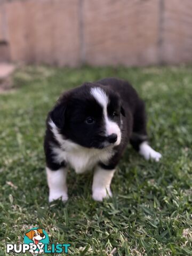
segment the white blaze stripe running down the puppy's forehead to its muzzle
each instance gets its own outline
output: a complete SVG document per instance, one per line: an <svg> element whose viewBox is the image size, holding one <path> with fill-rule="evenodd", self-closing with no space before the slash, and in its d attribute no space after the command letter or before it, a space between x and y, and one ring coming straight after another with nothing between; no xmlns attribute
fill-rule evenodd
<svg viewBox="0 0 192 256"><path fill-rule="evenodd" d="M114 146L119 145L121 143L121 130L117 123L111 121L107 115L107 105L109 103L109 99L106 93L100 87L94 87L91 88L91 94L103 108L103 116L106 124L106 136L116 133L117 141L114 143Z"/></svg>

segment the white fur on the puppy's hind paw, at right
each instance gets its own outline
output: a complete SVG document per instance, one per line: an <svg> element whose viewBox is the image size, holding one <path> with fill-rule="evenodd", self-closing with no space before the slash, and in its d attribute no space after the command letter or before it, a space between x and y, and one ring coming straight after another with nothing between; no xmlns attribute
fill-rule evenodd
<svg viewBox="0 0 192 256"><path fill-rule="evenodd" d="M139 147L139 154L146 160L154 159L156 162L162 157L160 153L151 148L146 141L142 142Z"/></svg>

